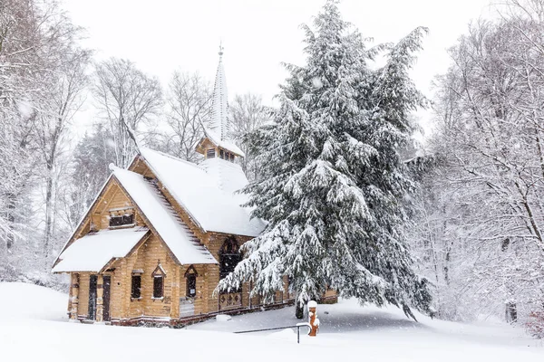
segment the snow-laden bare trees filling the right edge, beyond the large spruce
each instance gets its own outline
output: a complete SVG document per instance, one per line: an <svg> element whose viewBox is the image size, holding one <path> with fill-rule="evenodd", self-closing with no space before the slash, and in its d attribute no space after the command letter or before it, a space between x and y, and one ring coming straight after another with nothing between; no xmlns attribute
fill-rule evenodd
<svg viewBox="0 0 544 362"><path fill-rule="evenodd" d="M502 19L471 24L438 81L441 164L412 231L447 318L541 308L543 4L514 0Z"/></svg>

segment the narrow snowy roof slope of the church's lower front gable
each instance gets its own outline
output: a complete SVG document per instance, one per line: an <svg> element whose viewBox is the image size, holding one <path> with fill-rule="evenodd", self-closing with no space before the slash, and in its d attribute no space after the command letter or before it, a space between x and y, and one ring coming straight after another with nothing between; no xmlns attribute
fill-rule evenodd
<svg viewBox="0 0 544 362"><path fill-rule="evenodd" d="M114 168L113 176L131 195L134 203L181 264L217 264L218 262L199 242L176 212L167 205L157 186L140 174Z"/></svg>

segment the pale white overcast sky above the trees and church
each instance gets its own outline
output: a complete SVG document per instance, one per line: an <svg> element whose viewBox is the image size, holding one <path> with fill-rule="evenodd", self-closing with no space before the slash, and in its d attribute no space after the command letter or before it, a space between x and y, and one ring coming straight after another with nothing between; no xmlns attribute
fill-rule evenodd
<svg viewBox="0 0 544 362"><path fill-rule="evenodd" d="M304 62L303 32L325 0L63 0L74 24L87 29L96 59L130 59L163 85L174 70L213 81L219 42L225 47L229 98L261 94L267 104L287 73L281 62ZM340 10L374 43L395 42L413 28L430 29L413 71L423 92L446 71L446 50L471 19L489 17L489 0L344 0ZM423 115L423 118L428 116Z"/></svg>

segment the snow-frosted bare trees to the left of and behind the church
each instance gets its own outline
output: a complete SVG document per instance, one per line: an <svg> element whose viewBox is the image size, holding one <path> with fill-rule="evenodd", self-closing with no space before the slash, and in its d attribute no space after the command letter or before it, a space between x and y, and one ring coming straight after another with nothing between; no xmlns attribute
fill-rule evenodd
<svg viewBox="0 0 544 362"><path fill-rule="evenodd" d="M0 280L56 282L54 257L109 176L143 145L198 162L212 85L174 71L166 87L134 62L93 61L56 1L0 4ZM84 124L83 110L95 110ZM233 135L268 117L260 96L230 103ZM87 128L82 137L78 130ZM240 146L246 149L244 142ZM251 153L242 167L257 175Z"/></svg>

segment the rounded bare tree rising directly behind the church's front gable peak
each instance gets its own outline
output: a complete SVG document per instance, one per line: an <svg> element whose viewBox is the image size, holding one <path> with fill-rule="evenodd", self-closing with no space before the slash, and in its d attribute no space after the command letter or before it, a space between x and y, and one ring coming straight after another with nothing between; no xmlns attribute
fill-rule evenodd
<svg viewBox="0 0 544 362"><path fill-rule="evenodd" d="M134 63L111 58L95 66L94 98L108 122L115 144L116 165L126 167L135 153L130 129L141 131L162 105L160 82Z"/></svg>

